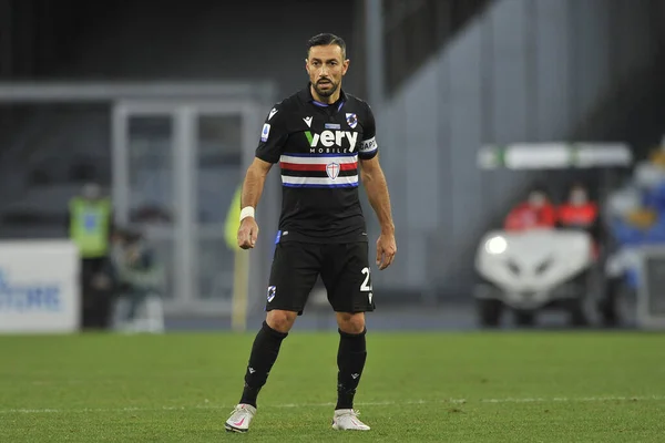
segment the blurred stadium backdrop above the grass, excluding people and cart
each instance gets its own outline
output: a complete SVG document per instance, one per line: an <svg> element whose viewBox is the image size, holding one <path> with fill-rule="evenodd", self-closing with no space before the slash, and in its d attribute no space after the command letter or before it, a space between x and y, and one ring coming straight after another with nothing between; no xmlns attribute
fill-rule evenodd
<svg viewBox="0 0 665 443"><path fill-rule="evenodd" d="M602 204L604 258L636 253L620 272L620 326L640 327L636 300L665 295L657 266L635 271L642 246L656 257L665 243L664 20L659 0L0 0L0 329L81 327L68 223L92 183L154 250L166 330L259 324L278 174L248 261L227 246L226 217L263 120L306 84L319 32L347 41L344 87L374 109L391 192L399 253L374 272L371 328L475 328L481 238L534 184L562 202L573 178ZM579 142L632 159L610 175L478 162L487 145ZM316 300L298 327L334 328ZM566 324L548 316L539 324Z"/></svg>

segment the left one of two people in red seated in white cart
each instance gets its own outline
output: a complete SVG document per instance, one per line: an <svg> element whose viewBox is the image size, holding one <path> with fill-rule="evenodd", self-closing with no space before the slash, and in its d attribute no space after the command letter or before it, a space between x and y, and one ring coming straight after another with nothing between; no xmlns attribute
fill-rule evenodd
<svg viewBox="0 0 665 443"><path fill-rule="evenodd" d="M534 187L523 202L515 206L505 218L507 230L525 230L533 228L554 228L556 210L548 193L542 187Z"/></svg>

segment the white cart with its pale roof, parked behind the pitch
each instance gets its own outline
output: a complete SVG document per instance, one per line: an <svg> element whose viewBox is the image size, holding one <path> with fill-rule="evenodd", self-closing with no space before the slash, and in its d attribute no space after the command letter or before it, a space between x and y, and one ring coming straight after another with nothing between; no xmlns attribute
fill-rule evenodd
<svg viewBox="0 0 665 443"><path fill-rule="evenodd" d="M511 169L612 168L630 166L624 145L545 144L481 150L480 166ZM574 229L491 230L475 254L474 288L483 327L497 327L505 310L519 326L533 326L539 311L563 309L572 326L587 324L586 305L598 267L591 235Z"/></svg>

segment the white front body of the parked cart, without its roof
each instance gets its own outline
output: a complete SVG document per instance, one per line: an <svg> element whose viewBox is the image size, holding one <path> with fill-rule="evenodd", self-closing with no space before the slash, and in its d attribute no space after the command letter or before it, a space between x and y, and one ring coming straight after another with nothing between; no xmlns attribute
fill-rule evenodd
<svg viewBox="0 0 665 443"><path fill-rule="evenodd" d="M586 324L583 302L594 261L591 236L584 231L488 233L475 257L481 323L499 324L508 307L518 324L530 326L536 311L560 307L569 311L571 324Z"/></svg>

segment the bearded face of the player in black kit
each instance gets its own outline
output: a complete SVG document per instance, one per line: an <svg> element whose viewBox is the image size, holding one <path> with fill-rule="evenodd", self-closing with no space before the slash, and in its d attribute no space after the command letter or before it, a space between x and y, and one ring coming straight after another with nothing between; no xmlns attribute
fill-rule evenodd
<svg viewBox="0 0 665 443"><path fill-rule="evenodd" d="M349 69L349 61L344 60L341 48L327 44L309 49L305 68L316 93L328 97L339 89L341 78Z"/></svg>

